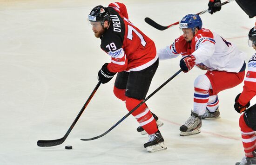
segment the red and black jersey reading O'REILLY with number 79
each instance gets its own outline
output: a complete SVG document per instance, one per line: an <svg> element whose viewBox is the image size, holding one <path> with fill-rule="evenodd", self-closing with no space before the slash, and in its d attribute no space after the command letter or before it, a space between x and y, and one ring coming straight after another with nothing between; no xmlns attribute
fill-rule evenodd
<svg viewBox="0 0 256 165"><path fill-rule="evenodd" d="M107 69L114 73L139 71L155 63L155 43L128 20L126 6L115 2L107 8L111 22L101 36L101 49L111 56Z"/></svg>

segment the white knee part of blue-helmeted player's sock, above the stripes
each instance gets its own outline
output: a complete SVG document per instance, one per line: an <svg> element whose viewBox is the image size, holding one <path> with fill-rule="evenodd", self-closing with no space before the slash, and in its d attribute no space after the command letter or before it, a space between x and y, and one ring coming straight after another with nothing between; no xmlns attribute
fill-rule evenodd
<svg viewBox="0 0 256 165"><path fill-rule="evenodd" d="M212 88L211 82L206 75L199 75L198 77L196 77L194 87L195 89L203 89L206 91Z"/></svg>

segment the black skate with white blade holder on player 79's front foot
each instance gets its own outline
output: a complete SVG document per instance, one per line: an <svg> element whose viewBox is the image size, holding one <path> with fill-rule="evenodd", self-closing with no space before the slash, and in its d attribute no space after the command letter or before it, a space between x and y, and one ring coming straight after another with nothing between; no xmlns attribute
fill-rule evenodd
<svg viewBox="0 0 256 165"><path fill-rule="evenodd" d="M164 140L159 130L154 134L148 135L148 137L148 142L144 144L144 147L147 149L148 152L155 152L167 149L167 146L164 145Z"/></svg>

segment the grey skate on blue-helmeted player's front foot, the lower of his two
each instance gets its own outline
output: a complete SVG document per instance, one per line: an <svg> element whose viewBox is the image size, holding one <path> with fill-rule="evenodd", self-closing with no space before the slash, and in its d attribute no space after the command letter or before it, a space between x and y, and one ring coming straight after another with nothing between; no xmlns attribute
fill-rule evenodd
<svg viewBox="0 0 256 165"><path fill-rule="evenodd" d="M202 127L202 117L198 116L191 110L191 116L185 122L184 125L180 127L180 135L181 136L188 136L192 134L200 133L200 128Z"/></svg>

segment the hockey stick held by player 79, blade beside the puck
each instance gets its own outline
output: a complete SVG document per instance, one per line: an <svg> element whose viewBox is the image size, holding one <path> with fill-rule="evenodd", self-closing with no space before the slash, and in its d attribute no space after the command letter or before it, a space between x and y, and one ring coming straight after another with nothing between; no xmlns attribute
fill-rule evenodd
<svg viewBox="0 0 256 165"><path fill-rule="evenodd" d="M80 118L81 114L83 113L84 109L87 107L87 105L89 104L89 102L91 101L91 99L93 98L95 92L97 91L97 89L100 87L101 85L101 81L99 81L99 83L97 83L96 87L94 88L93 92L91 93L91 95L89 96L88 100L85 102L84 106L82 107L81 111L79 112L79 114L76 116L74 122L72 123L72 125L69 127L69 129L67 130L67 133L61 138L61 139L56 139L56 140L38 140L37 141L37 146L42 146L42 147L47 147L47 146L57 146L62 144L66 139L68 134L71 132L71 130L73 129L75 123L78 121L78 119Z"/></svg>

